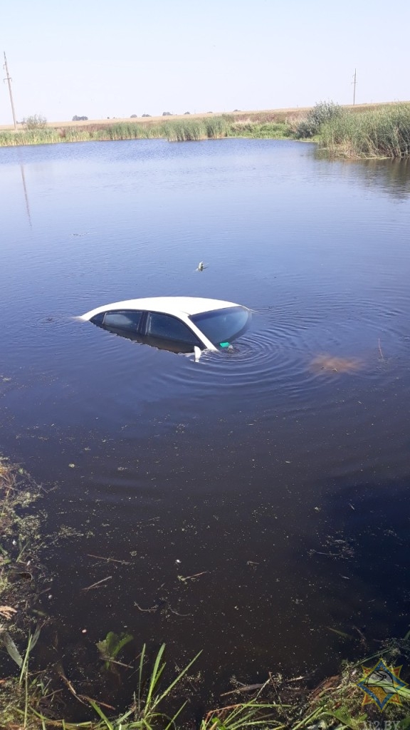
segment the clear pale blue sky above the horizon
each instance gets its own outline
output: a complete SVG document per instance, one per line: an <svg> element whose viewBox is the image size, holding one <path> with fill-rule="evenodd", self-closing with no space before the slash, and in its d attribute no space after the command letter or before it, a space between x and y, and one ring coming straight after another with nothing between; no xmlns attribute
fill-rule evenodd
<svg viewBox="0 0 410 730"><path fill-rule="evenodd" d="M357 103L407 101L409 28L409 0L9 0L0 51L18 120L228 112L351 103L355 68Z"/></svg>

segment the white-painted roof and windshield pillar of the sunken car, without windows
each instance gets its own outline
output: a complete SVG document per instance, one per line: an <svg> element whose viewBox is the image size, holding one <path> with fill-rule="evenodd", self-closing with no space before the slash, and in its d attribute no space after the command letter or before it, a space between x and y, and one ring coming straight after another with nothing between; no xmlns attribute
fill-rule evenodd
<svg viewBox="0 0 410 730"><path fill-rule="evenodd" d="M231 307L239 307L241 310L250 312L247 307L241 304L235 304L233 301L223 301L220 299L204 299L195 296L155 296L145 299L125 299L124 301L115 301L111 304L104 304L102 307L86 312L77 319L90 321L96 315L102 313L112 313L115 310L155 312L155 314L171 315L177 318L196 335L201 342L201 349L218 350L219 348L214 342L206 337L201 328L194 323L190 317L193 315L206 314L206 312L214 312L215 310L224 310ZM194 347L192 348L194 350Z"/></svg>

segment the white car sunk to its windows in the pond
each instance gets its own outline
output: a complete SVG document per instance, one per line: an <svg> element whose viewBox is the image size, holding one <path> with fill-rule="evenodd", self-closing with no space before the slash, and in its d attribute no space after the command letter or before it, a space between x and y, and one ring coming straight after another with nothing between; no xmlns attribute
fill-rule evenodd
<svg viewBox="0 0 410 730"><path fill-rule="evenodd" d="M79 319L161 350L197 354L229 347L251 316L247 307L233 301L155 296L104 304Z"/></svg>

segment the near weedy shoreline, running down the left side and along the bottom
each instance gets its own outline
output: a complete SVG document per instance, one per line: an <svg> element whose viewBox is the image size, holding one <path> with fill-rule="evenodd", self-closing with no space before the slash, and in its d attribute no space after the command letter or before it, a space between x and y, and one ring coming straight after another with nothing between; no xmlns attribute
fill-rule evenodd
<svg viewBox="0 0 410 730"><path fill-rule="evenodd" d="M39 557L45 545L42 515L38 503L34 514L34 503L40 496L41 490L23 469L0 458L1 730L363 730L376 727L365 723L378 721L380 712L375 704L363 707L360 665L371 670L380 658L388 667L404 664L403 679L409 679L410 631L403 639L379 642L373 656L345 663L337 675L320 684L315 683L315 674L285 679L269 672L258 684L232 679L231 687L199 710L199 655L183 669L170 669L165 645L151 650L142 645L134 661L125 663L123 650L133 637L108 631L96 645L100 661L93 685L98 701L81 694L58 654L41 666L45 660L38 652L42 632L51 621L39 604L45 577ZM107 702L104 688L120 686L127 674L133 677L134 696L129 707L116 709L109 704L112 699ZM380 696L386 694L383 687L376 690ZM386 692L391 688L390 683ZM389 704L383 718L395 721L395 730L407 730L410 690L403 685L396 694L400 703ZM74 722L74 716L80 720Z"/></svg>

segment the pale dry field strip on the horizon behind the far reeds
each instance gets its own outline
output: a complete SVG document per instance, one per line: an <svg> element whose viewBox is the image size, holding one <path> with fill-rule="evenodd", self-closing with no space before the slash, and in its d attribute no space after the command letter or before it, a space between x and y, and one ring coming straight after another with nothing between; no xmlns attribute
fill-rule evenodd
<svg viewBox="0 0 410 730"><path fill-rule="evenodd" d="M403 103L409 103L409 102L403 102ZM381 107L385 107L389 104L397 104L396 101L384 101L379 104L355 104L353 107L352 104L346 104L345 109L354 110L355 112L363 112L366 110L377 110ZM268 110L250 110L250 111L235 111L235 112L201 112L199 114L175 114L171 116L163 116L160 117L125 117L125 118L117 118L112 117L110 119L88 119L86 121L78 121L73 122L71 120L69 121L55 121L55 122L47 122L48 127L52 127L55 129L62 128L62 127L85 127L90 125L112 125L112 123L121 123L121 122L127 122L127 123L136 123L140 124L143 123L145 125L155 125L158 123L162 123L169 119L201 119L204 117L212 117L212 116L221 116L221 115L228 115L229 117L233 117L236 121L260 121L260 122L284 122L285 119L289 117L298 118L299 116L303 116L306 114L306 112L309 112L309 110L312 109L312 107L293 107L289 109L268 109ZM4 124L0 125L0 129L2 130L13 130L12 124ZM18 124L18 130L24 129L23 124Z"/></svg>

